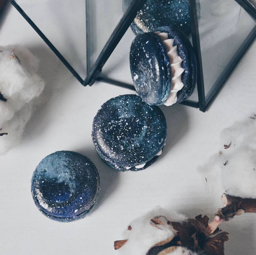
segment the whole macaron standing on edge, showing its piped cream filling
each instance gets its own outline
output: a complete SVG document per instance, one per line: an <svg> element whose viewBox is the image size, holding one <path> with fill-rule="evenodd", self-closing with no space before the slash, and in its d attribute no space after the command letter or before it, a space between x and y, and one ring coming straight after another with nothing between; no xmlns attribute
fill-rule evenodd
<svg viewBox="0 0 256 255"><path fill-rule="evenodd" d="M138 95L149 105L174 105L191 96L197 61L187 36L171 27L137 35L130 48L130 71Z"/></svg>

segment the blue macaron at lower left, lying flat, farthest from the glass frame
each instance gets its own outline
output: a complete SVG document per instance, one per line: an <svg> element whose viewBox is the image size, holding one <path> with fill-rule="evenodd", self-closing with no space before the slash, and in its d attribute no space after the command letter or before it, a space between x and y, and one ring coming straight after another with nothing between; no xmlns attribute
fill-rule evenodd
<svg viewBox="0 0 256 255"><path fill-rule="evenodd" d="M39 163L31 192L40 212L51 220L81 219L99 195L99 174L89 158L72 151L57 151Z"/></svg>

